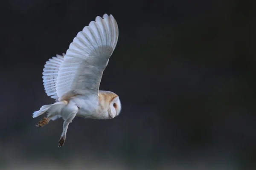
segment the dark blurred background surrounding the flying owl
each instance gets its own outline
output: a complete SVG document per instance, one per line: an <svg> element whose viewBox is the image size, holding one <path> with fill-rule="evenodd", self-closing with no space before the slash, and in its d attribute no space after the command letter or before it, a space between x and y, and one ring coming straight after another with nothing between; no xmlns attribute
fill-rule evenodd
<svg viewBox="0 0 256 170"><path fill-rule="evenodd" d="M0 5L0 169L256 169L256 1L7 0ZM119 40L100 90L115 119L62 119L37 128L52 104L45 62L96 16Z"/></svg>

